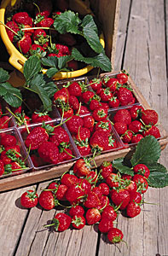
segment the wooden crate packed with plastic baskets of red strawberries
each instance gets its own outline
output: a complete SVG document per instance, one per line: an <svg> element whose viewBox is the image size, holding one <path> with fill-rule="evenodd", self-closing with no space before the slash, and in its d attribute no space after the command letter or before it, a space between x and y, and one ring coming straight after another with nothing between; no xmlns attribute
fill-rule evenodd
<svg viewBox="0 0 168 256"><path fill-rule="evenodd" d="M67 172L73 166L78 158L83 156L89 155L90 157L95 157L95 162L97 166L101 165L102 160L111 161L119 157L124 157L126 154L131 153L135 149L136 144L140 141L142 137L148 135L153 135L154 137L156 137L159 141L161 149L164 149L166 144L168 143L168 139L165 129L162 127L162 125L158 125L158 116L153 115L152 118L154 124L152 124L152 126L154 127L151 129L151 124L148 124L147 117L151 113L153 113L151 111L152 109L150 108L148 102L142 96L142 93L140 92L140 90L138 90L136 84L133 82L130 76L128 77L128 81L122 81L122 79L119 80L119 73L120 72L102 73L98 77L84 77L80 79L68 79L58 81L56 84L59 90L57 90L55 96L53 96L52 99L54 105L53 109L55 109L54 111L56 114L50 116L51 120L49 119L42 122L40 119L40 121L36 124L31 123L27 126L18 126L14 120L14 131L19 134L20 142L23 145L24 151L26 151L27 155L29 154L27 160L29 159L30 161L30 168L24 173L20 172L17 176L9 175L8 177L0 178L0 191L15 189L21 186L25 186L27 184L38 183L43 180L60 177L62 173ZM119 83L116 83L116 80L118 80ZM96 88L96 83L98 83L97 81L99 83L102 83L101 90L98 90ZM64 96L67 96L68 91L69 94L67 98L69 99L69 97L72 96L72 94L74 93L74 88L76 88L76 92L78 91L78 87L76 87L78 82L79 84L81 84L81 82L82 84L86 84L87 90L85 90L84 92L89 91L89 96L84 94L84 92L84 96L75 96L79 102L78 108L72 108L74 107L72 104L69 108L72 108L73 112L68 113L67 115L63 115L66 113L66 111L64 110L64 108L62 108L63 111L59 111L59 108L61 108L62 104L60 104L60 96L58 96L60 94L58 92L63 89L65 90ZM110 82L113 83L110 84ZM121 86L122 83L123 86ZM114 91L113 88L111 88L114 85L118 87L117 93L116 91ZM120 87L122 89L120 89ZM108 88L111 90L109 90ZM122 95L122 90L124 90L123 88L125 88L126 90L126 95L130 96L129 99ZM96 97L97 92L99 96L98 98ZM113 96L111 96L111 92L113 92ZM110 97L109 99L107 99L106 96L109 95ZM111 97L113 97L114 100L119 99L119 104L112 105L111 102L113 102L113 100L111 99ZM90 102L92 101L98 102L95 102L96 104L99 104L99 106L96 105L96 109L98 109L98 112L93 107L95 103L92 103L93 106L90 105ZM64 107L68 107L68 104L69 101L67 100ZM82 108L82 106L84 108ZM102 106L104 108L101 108ZM148 111L148 114L143 114L146 113L146 111ZM136 116L136 113L141 113L141 115L138 117ZM127 115L129 115L129 117ZM72 119L76 119L75 124L72 124ZM93 119L95 120L94 125L91 121ZM124 119L126 119L126 121L124 121ZM79 127L78 125L76 125L78 122L82 122L80 123ZM119 126L120 122L127 122L126 127L125 125ZM63 146L59 147L61 148L61 150L63 148L64 153L67 154L67 160L63 159L52 162L52 157L50 156L50 154L46 154L46 151L49 152L50 148L52 147L49 147L48 150L44 150L46 148L43 149L40 147L40 149L37 149L36 145L35 148L31 148L30 141L29 139L27 139L27 137L31 137L31 132L36 131L36 129L39 135L39 132L41 131L38 131L38 129L40 127L43 127L44 130L49 130L47 139L42 138L47 142L45 145L46 148L50 143L57 143L58 137L56 137L56 130L59 131L59 135L62 131L61 128L66 131L68 141L67 143L63 142ZM109 132L107 132L108 129ZM1 130L0 136L8 131L9 128ZM131 131L131 136L128 131ZM46 134L44 135L44 137L46 137ZM32 137L32 139L33 138L36 138L36 136ZM100 142L102 141L105 141L106 143L100 144ZM36 139L33 139L32 142L32 145L36 144ZM81 145L81 142L89 142L88 144L90 150L83 151L83 149L81 148L84 148L84 145ZM59 142L58 145L60 145L60 143L61 142ZM38 159L37 154L39 157ZM55 154L57 155L56 157L58 157L58 152L56 152ZM60 156L61 152L59 152L58 159L60 158ZM39 165L38 160L41 161Z"/></svg>

